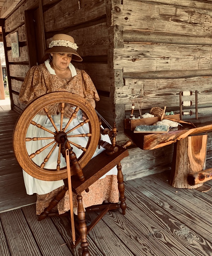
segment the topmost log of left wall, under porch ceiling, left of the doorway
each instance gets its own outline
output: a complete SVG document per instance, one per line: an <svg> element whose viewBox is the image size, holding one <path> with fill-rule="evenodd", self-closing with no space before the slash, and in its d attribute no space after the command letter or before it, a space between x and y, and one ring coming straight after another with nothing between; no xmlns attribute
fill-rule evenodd
<svg viewBox="0 0 212 256"><path fill-rule="evenodd" d="M5 20L5 32L11 32L24 24L24 11L38 7L38 0L25 1Z"/></svg>

